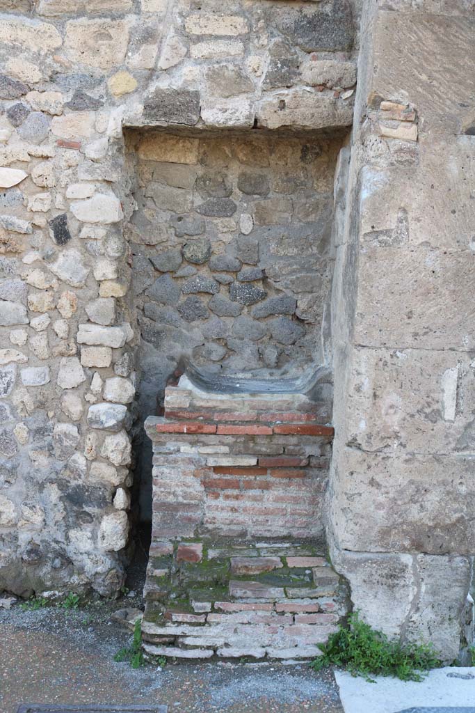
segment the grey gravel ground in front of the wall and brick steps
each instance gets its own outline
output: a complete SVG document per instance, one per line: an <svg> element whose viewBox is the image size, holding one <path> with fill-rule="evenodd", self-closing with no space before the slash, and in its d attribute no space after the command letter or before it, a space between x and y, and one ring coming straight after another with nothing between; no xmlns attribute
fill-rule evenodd
<svg viewBox="0 0 475 713"><path fill-rule="evenodd" d="M333 672L306 664L168 664L132 670L113 655L130 632L110 614L137 600L80 610L0 609L0 713L21 703L167 704L169 713L343 713Z"/></svg>

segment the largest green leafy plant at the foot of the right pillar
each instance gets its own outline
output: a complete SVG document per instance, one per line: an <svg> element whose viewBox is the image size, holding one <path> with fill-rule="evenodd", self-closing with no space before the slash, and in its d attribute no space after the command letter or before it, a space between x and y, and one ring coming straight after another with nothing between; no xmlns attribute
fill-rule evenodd
<svg viewBox="0 0 475 713"><path fill-rule="evenodd" d="M318 644L322 655L312 662L315 671L326 666L348 669L353 676L374 682L373 676L395 676L402 681L422 681L424 672L442 664L432 645L402 644L350 615L349 626L340 626L326 644Z"/></svg>

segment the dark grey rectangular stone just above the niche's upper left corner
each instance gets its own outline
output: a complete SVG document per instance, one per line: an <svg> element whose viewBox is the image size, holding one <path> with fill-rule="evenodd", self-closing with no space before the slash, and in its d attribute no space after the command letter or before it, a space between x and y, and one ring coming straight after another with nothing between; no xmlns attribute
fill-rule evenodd
<svg viewBox="0 0 475 713"><path fill-rule="evenodd" d="M145 97L143 116L147 121L193 126L199 119L199 92L157 87Z"/></svg>

